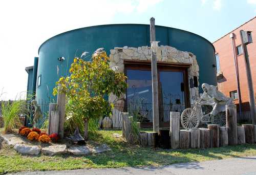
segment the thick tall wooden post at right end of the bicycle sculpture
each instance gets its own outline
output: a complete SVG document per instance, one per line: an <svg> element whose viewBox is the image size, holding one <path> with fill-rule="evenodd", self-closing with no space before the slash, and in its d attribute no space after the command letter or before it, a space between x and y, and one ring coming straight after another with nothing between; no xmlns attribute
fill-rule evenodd
<svg viewBox="0 0 256 175"><path fill-rule="evenodd" d="M235 104L226 105L226 123L228 132L228 144L238 144L238 128L237 128L237 106Z"/></svg>

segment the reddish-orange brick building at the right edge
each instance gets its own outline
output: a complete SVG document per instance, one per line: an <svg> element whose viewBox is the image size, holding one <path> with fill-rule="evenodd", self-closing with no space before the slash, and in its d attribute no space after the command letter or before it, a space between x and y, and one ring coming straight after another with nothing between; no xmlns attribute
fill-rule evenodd
<svg viewBox="0 0 256 175"><path fill-rule="evenodd" d="M234 63L232 39L230 34L234 36L234 52L236 54L238 74L240 80L240 91L242 101L242 111L249 111L249 92L247 85L247 76L244 62L244 53L241 47L240 30L251 31L252 41L247 45L251 75L253 81L254 94L256 92L256 16L239 26L238 28L230 31L226 35L222 36L213 45L216 49L216 63L217 63L217 80L218 89L226 96L234 98L236 104L238 101L237 93L237 78L236 78L236 67ZM256 96L256 95L254 95Z"/></svg>

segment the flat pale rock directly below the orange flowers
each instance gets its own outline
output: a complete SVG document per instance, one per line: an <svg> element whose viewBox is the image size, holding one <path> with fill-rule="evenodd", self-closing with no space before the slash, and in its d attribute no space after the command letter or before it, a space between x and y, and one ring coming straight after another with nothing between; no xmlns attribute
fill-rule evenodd
<svg viewBox="0 0 256 175"><path fill-rule="evenodd" d="M24 155L38 155L41 152L41 148L38 146L30 146L25 144L16 144L14 149L20 154Z"/></svg>

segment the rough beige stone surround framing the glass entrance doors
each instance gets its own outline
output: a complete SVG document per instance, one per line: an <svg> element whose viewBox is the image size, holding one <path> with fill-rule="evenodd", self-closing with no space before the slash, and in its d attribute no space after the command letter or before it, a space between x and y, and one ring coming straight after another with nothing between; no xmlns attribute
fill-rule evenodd
<svg viewBox="0 0 256 175"><path fill-rule="evenodd" d="M170 46L160 46L156 50L157 61L166 62L166 63L187 63L190 64L188 68L188 81L194 76L199 78L199 66L197 63L196 55L190 52L179 51L176 48ZM137 61L146 61L151 60L151 48L148 46L141 46L138 48L133 47L115 47L110 50L110 67L116 71L124 72L124 60L137 60ZM199 84L199 81L198 81ZM189 85L189 82L188 82ZM189 97L190 103L195 102L193 97L199 96L198 88L189 87ZM114 95L109 96L109 101L114 102L118 106L124 104L125 95L122 95L119 99ZM116 120L113 115L112 120ZM120 121L120 119L118 119ZM120 126L113 126L120 127Z"/></svg>

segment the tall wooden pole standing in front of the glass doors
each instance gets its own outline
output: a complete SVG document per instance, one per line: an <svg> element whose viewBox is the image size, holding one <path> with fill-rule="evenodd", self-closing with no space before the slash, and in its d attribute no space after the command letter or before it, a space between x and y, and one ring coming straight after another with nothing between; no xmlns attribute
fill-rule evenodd
<svg viewBox="0 0 256 175"><path fill-rule="evenodd" d="M150 18L150 41L156 41L155 18ZM152 94L153 94L153 128L159 133L159 109L158 109L158 76L157 56L151 47L151 70L152 70Z"/></svg>

